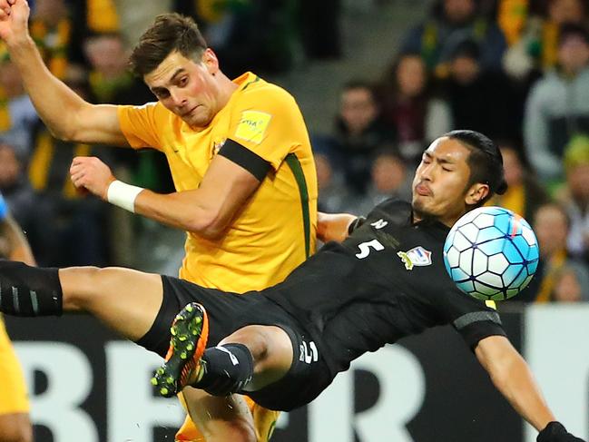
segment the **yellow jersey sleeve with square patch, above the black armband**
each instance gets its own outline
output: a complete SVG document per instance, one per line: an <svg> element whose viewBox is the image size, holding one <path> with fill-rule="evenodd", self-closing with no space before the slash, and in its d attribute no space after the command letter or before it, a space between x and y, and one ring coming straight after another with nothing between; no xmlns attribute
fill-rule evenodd
<svg viewBox="0 0 589 442"><path fill-rule="evenodd" d="M274 170L300 144L305 125L299 107L279 88L243 93L232 114L228 138L269 162Z"/></svg>

